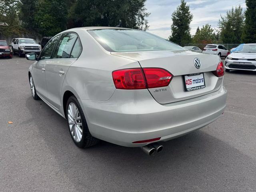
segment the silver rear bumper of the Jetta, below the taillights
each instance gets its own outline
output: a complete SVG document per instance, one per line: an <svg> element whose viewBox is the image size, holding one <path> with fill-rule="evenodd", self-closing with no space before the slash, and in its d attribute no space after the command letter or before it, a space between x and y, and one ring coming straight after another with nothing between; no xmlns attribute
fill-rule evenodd
<svg viewBox="0 0 256 192"><path fill-rule="evenodd" d="M149 142L132 142L158 137L159 141L167 141L210 124L224 112L226 97L226 89L221 87L198 98L162 105L148 90L116 90L106 102L79 102L92 136L121 146L139 147Z"/></svg>

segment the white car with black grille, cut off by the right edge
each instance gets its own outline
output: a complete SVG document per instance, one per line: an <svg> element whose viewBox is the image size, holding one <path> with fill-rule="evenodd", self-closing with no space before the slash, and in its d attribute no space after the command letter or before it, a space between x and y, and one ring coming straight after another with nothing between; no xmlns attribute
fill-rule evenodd
<svg viewBox="0 0 256 192"><path fill-rule="evenodd" d="M241 44L234 52L227 56L225 69L256 71L256 44Z"/></svg>

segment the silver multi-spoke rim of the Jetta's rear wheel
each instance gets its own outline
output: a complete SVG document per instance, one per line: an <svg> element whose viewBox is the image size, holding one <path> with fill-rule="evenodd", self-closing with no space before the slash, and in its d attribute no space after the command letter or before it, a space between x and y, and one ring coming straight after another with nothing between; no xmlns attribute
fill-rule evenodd
<svg viewBox="0 0 256 192"><path fill-rule="evenodd" d="M76 104L70 102L68 105L68 126L70 133L76 142L82 140L82 121Z"/></svg>

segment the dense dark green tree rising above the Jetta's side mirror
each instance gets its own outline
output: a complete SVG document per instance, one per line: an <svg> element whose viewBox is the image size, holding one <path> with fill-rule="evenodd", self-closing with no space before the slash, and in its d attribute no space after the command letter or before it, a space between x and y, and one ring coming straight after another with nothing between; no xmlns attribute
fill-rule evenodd
<svg viewBox="0 0 256 192"><path fill-rule="evenodd" d="M39 0L34 13L35 30L42 36L54 36L66 30L67 0Z"/></svg>

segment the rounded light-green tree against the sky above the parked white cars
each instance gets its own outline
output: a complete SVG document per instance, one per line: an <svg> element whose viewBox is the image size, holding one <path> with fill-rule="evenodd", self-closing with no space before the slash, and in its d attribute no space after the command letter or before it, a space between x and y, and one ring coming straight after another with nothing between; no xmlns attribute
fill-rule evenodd
<svg viewBox="0 0 256 192"><path fill-rule="evenodd" d="M223 43L236 44L241 42L244 26L244 13L239 5L227 11L226 16L221 16L218 22L220 37Z"/></svg>

